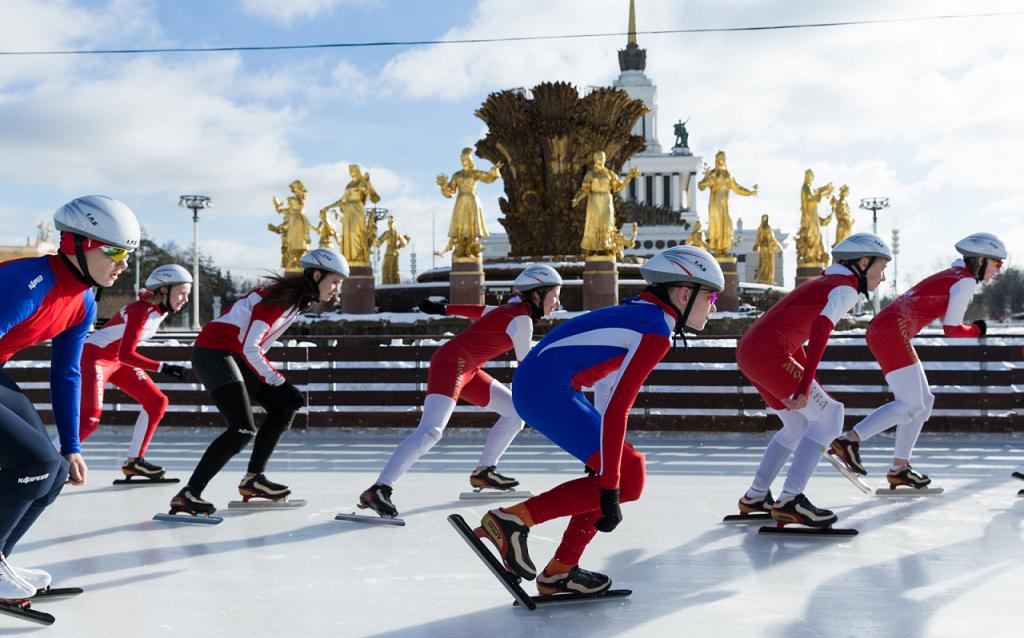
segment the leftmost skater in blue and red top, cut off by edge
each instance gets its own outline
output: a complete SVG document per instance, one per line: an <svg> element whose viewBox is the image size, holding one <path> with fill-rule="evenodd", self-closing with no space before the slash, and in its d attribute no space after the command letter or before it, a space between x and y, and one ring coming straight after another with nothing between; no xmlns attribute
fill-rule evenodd
<svg viewBox="0 0 1024 638"><path fill-rule="evenodd" d="M79 198L53 216L56 255L0 264L0 599L33 596L50 584L42 569L10 565L25 533L60 494L65 481L85 482L78 437L82 344L96 317L94 286L108 288L138 247L138 220L116 200ZM3 370L19 350L50 340L50 396L60 437L50 443L32 400Z"/></svg>

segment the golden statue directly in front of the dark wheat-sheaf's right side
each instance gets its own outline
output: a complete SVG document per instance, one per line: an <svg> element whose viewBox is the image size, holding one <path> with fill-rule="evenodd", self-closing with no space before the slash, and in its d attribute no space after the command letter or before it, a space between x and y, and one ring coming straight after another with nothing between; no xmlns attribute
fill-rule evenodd
<svg viewBox="0 0 1024 638"><path fill-rule="evenodd" d="M587 220L580 244L585 255L614 255L621 250L615 243L618 228L615 227L615 206L611 195L640 176L639 168L631 168L626 179L618 179L614 171L604 166L604 160L603 151L594 154L594 165L584 175L580 190L572 196L572 208L587 200Z"/></svg>

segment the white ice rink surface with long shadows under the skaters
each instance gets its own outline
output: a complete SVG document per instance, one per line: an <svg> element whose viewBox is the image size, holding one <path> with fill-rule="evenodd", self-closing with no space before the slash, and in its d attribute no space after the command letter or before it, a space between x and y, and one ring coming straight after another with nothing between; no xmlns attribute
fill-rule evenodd
<svg viewBox="0 0 1024 638"><path fill-rule="evenodd" d="M147 455L183 479L215 430L157 432ZM407 431L408 432L408 431ZM779 539L726 525L769 434L634 434L647 455L641 500L599 534L582 566L608 573L628 599L526 611L445 520L475 525L495 505L460 502L481 432L452 432L398 483L404 527L337 522L352 512L406 432L289 432L267 475L309 501L293 510L236 512L248 452L204 495L220 525L152 521L176 485L114 487L130 434L104 428L85 444L89 483L68 486L11 557L51 571L82 596L39 601L44 628L0 615L0 634L74 638L175 636L1015 636L1022 635L1024 439L923 436L914 466L940 496L863 496L822 462L807 490L853 539ZM862 448L881 486L892 439ZM532 433L501 470L535 493L582 474ZM783 470L784 471L784 470ZM775 487L777 493L781 480ZM562 520L535 527L530 554L550 558ZM531 583L527 593L536 593Z"/></svg>

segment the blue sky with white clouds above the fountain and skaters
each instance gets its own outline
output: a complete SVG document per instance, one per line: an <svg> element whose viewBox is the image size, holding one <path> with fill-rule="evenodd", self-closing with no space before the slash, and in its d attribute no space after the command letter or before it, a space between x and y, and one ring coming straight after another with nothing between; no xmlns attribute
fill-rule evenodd
<svg viewBox="0 0 1024 638"><path fill-rule="evenodd" d="M1019 3L638 0L638 27L804 23L1011 11ZM0 49L302 44L623 31L626 0L5 0ZM976 230L1024 241L1020 86L1024 16L761 34L641 36L658 85L663 143L692 117L690 143L719 148L748 225L793 232L806 168L889 196L880 232L903 233L900 280L951 258ZM429 265L451 202L434 185L484 134L472 114L492 91L565 80L609 84L618 38L489 45L88 57L0 57L0 243L20 243L62 202L129 203L157 241L190 243L177 196L202 193L202 245L252 277L276 266L270 198L301 178L315 221L349 162ZM501 185L481 187L493 230ZM701 194L699 210L706 215ZM869 214L855 229L867 229ZM787 261L793 264L793 248ZM408 274L408 257L401 267ZM904 286L905 288L905 286Z"/></svg>

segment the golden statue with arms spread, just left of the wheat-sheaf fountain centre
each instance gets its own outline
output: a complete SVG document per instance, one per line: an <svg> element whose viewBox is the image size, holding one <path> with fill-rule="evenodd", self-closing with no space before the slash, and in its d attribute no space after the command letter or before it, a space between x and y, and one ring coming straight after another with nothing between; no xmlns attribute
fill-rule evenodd
<svg viewBox="0 0 1024 638"><path fill-rule="evenodd" d="M475 259L482 250L478 240L489 235L487 226L483 223L480 198L476 196L476 182L489 184L498 180L502 176L502 163L496 163L489 171L478 171L473 165L472 148L463 148L461 159L462 170L452 175L452 179L443 173L437 176L441 195L449 199L455 195L456 198L455 207L452 209L452 223L449 225L447 246L436 254L443 257L454 249L452 257L455 259Z"/></svg>

